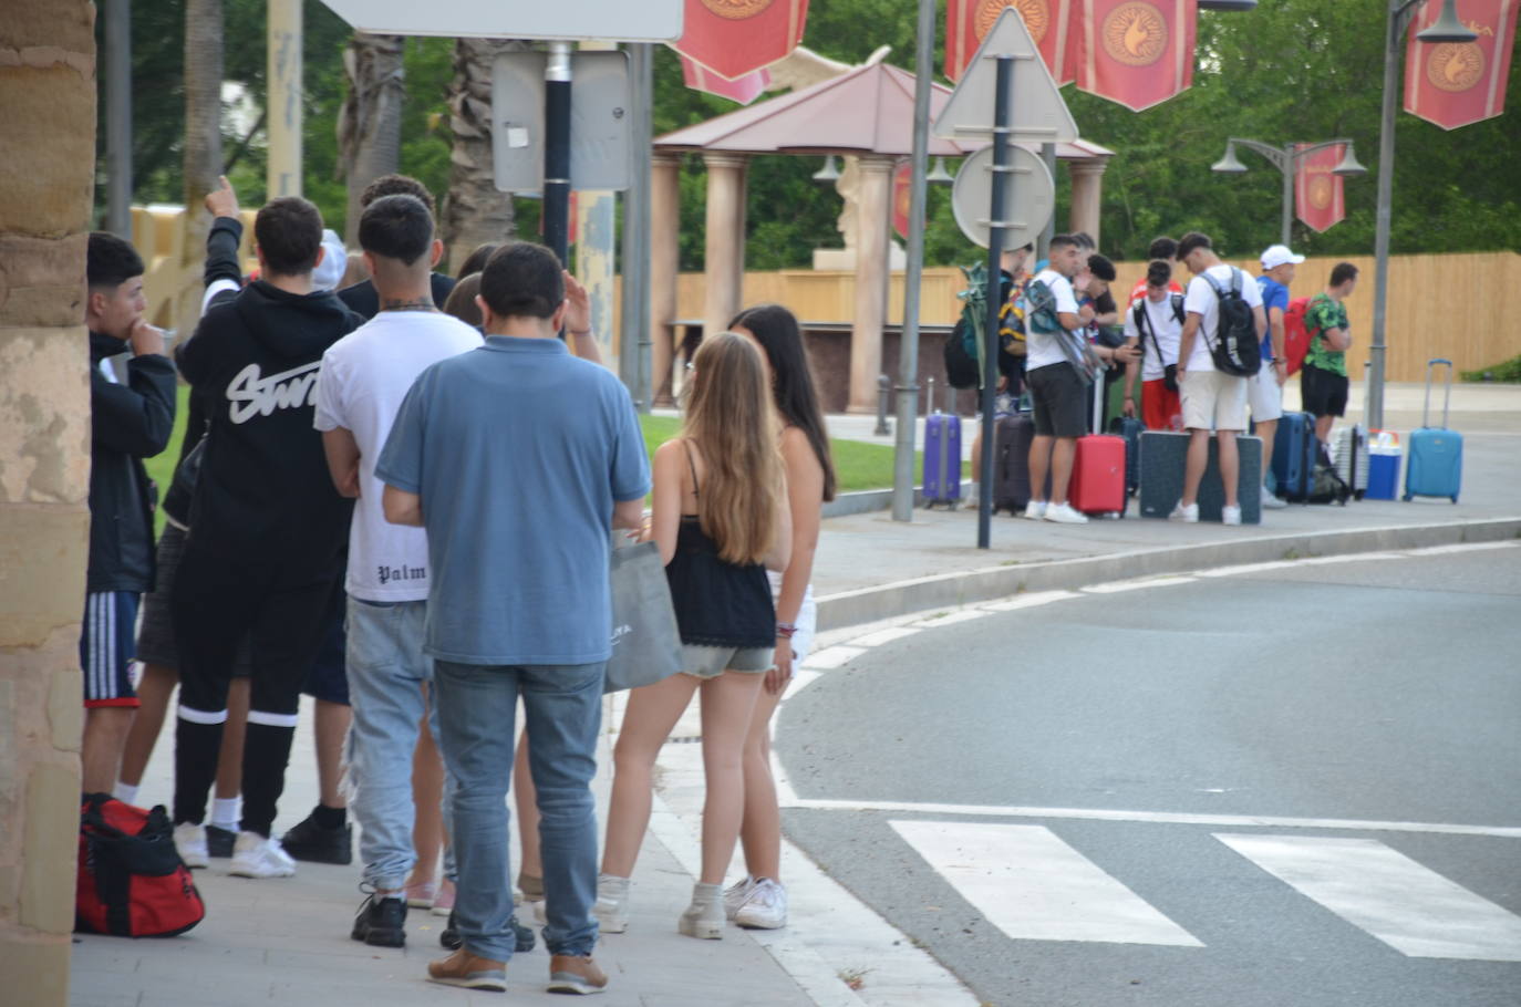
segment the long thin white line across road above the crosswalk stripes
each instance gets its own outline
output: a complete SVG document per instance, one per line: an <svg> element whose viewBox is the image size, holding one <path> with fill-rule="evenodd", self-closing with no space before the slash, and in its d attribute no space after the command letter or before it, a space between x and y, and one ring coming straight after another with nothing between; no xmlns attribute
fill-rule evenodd
<svg viewBox="0 0 1521 1007"><path fill-rule="evenodd" d="M1168 811L1110 811L1100 808L1022 808L1013 805L946 805L905 800L827 800L802 797L782 805L803 811L881 811L887 814L967 815L978 818L1074 818L1081 821L1141 821L1150 824L1209 824L1269 829L1355 829L1358 832L1430 832L1488 835L1521 840L1521 828L1446 824L1430 821L1375 821L1363 818L1284 818L1278 815L1217 815Z"/></svg>

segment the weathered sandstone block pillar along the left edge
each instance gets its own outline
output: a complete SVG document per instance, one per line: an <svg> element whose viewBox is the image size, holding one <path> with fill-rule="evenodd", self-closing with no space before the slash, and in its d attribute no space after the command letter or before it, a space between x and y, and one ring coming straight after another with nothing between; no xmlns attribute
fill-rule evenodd
<svg viewBox="0 0 1521 1007"><path fill-rule="evenodd" d="M90 538L94 5L0 18L0 977L68 1002Z"/></svg>

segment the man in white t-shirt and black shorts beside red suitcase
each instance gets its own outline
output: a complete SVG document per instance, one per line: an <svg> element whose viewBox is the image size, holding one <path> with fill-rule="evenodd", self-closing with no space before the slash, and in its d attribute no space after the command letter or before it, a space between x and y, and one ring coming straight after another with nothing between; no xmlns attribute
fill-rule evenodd
<svg viewBox="0 0 1521 1007"><path fill-rule="evenodd" d="M1071 234L1051 239L1051 260L1034 280L1045 283L1056 298L1056 316L1062 332L1039 333L1025 312L1025 383L1034 406L1034 440L1030 443L1030 505L1025 517L1063 525L1084 525L1088 517L1066 502L1066 484L1072 476L1077 438L1088 434L1088 383L1071 364L1071 353L1081 353L1080 336L1074 335L1094 318L1092 306L1078 309L1072 292L1072 275L1083 266L1083 251ZM1062 341L1071 341L1063 348ZM1051 499L1043 496L1046 472L1051 473Z"/></svg>

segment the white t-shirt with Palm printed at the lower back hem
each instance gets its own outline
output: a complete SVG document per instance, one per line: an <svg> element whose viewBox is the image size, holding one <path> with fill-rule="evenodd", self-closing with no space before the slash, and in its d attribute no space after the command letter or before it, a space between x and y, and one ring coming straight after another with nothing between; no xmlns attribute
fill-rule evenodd
<svg viewBox="0 0 1521 1007"><path fill-rule="evenodd" d="M427 599L427 534L385 519L376 459L417 376L479 345L481 333L452 315L380 312L322 354L313 424L318 430L351 430L359 444L359 500L348 528L344 580L354 598Z"/></svg>

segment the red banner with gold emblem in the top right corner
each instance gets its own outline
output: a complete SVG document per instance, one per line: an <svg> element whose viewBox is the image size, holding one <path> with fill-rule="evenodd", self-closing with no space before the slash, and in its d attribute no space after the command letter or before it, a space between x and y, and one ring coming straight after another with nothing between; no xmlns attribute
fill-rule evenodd
<svg viewBox="0 0 1521 1007"><path fill-rule="evenodd" d="M1440 3L1427 3L1410 23L1405 49L1405 111L1443 129L1457 129L1506 110L1510 50L1521 0L1457 0L1457 20L1477 32L1471 43L1422 43Z"/></svg>

